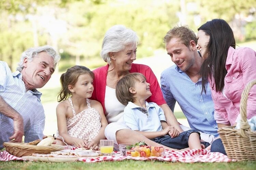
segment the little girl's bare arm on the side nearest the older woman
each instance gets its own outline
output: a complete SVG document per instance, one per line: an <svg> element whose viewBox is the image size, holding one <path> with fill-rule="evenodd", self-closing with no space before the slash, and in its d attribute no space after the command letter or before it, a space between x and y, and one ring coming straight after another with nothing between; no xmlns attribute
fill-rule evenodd
<svg viewBox="0 0 256 170"><path fill-rule="evenodd" d="M100 139L106 138L104 135L104 131L105 131L106 126L108 125L108 121L106 120L106 117L103 113L103 108L102 108L102 105L100 104L100 102L98 102L96 100L91 100L90 103L91 103L91 107L95 108L100 114L101 129L99 131L99 134L95 137L95 139L93 139L89 143L88 149L98 150Z"/></svg>

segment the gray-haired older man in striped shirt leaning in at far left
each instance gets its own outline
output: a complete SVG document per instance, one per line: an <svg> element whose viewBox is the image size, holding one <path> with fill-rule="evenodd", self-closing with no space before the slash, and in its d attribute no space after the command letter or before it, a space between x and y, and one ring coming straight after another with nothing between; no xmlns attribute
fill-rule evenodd
<svg viewBox="0 0 256 170"><path fill-rule="evenodd" d="M0 61L0 149L3 142L25 142L43 138L45 123L41 93L60 55L50 46L34 47L22 53L17 71Z"/></svg>

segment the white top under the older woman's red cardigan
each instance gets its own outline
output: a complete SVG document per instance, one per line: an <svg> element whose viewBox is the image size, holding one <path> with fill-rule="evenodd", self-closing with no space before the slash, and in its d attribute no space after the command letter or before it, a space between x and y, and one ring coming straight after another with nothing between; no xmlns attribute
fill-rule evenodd
<svg viewBox="0 0 256 170"><path fill-rule="evenodd" d="M125 105L116 98L116 89L106 86L105 116L108 123L123 122Z"/></svg>

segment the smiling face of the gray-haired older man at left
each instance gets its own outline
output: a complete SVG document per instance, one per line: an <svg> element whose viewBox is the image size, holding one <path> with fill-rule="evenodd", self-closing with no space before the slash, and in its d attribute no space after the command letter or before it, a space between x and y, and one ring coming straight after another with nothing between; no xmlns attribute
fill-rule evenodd
<svg viewBox="0 0 256 170"><path fill-rule="evenodd" d="M53 58L44 51L38 53L32 61L25 58L23 66L22 79L27 90L43 87L54 72Z"/></svg>

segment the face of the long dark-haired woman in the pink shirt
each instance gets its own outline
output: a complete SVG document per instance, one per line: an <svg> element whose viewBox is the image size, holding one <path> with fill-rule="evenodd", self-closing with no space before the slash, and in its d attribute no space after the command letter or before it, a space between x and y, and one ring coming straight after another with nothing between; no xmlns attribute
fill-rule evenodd
<svg viewBox="0 0 256 170"><path fill-rule="evenodd" d="M201 53L202 59L205 60L208 57L207 45L209 43L210 36L206 35L203 30L199 30L197 33L197 46L196 48Z"/></svg>

